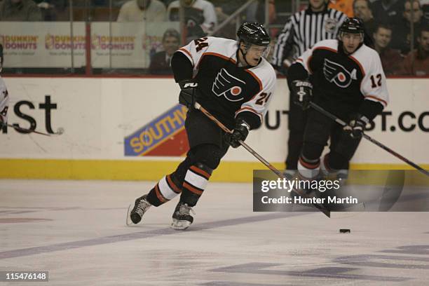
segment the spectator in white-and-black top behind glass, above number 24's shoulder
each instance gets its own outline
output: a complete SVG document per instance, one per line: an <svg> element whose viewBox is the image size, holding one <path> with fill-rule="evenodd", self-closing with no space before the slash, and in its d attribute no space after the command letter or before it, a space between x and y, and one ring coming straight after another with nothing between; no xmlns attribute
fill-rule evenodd
<svg viewBox="0 0 429 286"><path fill-rule="evenodd" d="M186 41L205 36L217 25L214 6L207 0L176 0L167 8L167 19L179 21L179 8L184 8Z"/></svg>

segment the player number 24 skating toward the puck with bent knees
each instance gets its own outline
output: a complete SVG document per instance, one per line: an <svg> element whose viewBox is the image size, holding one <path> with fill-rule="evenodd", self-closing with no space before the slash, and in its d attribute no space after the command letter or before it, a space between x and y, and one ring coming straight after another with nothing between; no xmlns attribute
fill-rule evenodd
<svg viewBox="0 0 429 286"><path fill-rule="evenodd" d="M229 147L240 146L249 131L258 128L275 89L275 71L264 55L271 41L259 23L244 23L238 41L204 37L191 41L172 57L175 81L186 105L185 128L190 150L175 172L163 177L149 193L130 205L127 224L137 224L152 205L159 206L180 194L172 214L173 229L193 222L192 208L203 194L214 169ZM233 133L226 134L194 109L198 102Z"/></svg>

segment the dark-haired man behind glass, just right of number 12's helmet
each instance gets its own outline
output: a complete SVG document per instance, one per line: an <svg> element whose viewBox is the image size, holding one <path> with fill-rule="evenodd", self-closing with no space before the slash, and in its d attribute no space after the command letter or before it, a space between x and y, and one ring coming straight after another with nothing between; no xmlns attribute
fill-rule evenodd
<svg viewBox="0 0 429 286"><path fill-rule="evenodd" d="M386 76L401 73L401 63L404 58L399 50L389 47L392 39L392 27L380 24L374 32L374 48L379 53L383 71Z"/></svg>

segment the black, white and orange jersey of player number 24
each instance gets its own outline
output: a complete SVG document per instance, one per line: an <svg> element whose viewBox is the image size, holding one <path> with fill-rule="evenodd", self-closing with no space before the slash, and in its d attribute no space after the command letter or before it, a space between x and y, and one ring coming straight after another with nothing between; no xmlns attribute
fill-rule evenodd
<svg viewBox="0 0 429 286"><path fill-rule="evenodd" d="M261 58L256 67L239 67L237 41L211 36L191 41L178 52L192 64L198 103L229 128L237 116L252 129L261 125L275 90L271 64Z"/></svg>

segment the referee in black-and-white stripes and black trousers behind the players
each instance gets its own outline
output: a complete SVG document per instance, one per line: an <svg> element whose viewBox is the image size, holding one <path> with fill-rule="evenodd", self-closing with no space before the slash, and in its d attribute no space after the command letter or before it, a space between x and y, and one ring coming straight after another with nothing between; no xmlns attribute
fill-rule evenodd
<svg viewBox="0 0 429 286"><path fill-rule="evenodd" d="M327 8L327 0L309 2L306 10L290 17L278 35L271 64L283 74L299 55L318 41L336 39L337 30L347 18L342 12ZM297 170L307 116L306 111L293 103L291 96L289 102L286 169Z"/></svg>

